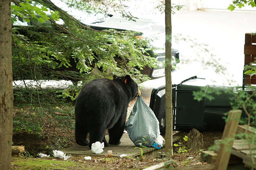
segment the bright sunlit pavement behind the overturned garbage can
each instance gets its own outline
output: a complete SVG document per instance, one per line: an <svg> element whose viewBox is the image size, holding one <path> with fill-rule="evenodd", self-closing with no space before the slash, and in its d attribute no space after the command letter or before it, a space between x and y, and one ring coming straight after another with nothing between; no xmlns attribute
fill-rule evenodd
<svg viewBox="0 0 256 170"><path fill-rule="evenodd" d="M245 33L256 32L255 18L252 11L178 11L172 15L172 35L181 52L172 81L197 76L214 84L241 86ZM164 84L165 77L143 82L142 96L149 97L153 88Z"/></svg>

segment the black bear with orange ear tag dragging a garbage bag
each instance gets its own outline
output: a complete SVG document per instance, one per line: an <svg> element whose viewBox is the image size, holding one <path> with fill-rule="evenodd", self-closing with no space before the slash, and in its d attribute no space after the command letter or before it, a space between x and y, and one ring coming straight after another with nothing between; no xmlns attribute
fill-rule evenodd
<svg viewBox="0 0 256 170"><path fill-rule="evenodd" d="M140 95L138 85L129 75L113 80L98 78L85 84L75 105L75 140L82 146L99 141L120 144L129 102ZM105 132L109 132L109 143ZM87 142L87 134L90 134Z"/></svg>

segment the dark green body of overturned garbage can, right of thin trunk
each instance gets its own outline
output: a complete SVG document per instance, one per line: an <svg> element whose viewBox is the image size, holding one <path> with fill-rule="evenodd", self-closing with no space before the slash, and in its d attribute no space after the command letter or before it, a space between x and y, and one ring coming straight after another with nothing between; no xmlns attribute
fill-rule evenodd
<svg viewBox="0 0 256 170"><path fill-rule="evenodd" d="M209 94L212 98L194 99L194 92ZM183 82L176 89L176 130L223 130L226 113L234 100L233 88L209 85L205 79L194 78Z"/></svg>

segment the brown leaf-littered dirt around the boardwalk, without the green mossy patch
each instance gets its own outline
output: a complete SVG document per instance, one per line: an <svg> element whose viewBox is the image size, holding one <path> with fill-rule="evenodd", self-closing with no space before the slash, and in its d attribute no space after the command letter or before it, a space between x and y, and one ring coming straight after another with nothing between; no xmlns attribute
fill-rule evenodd
<svg viewBox="0 0 256 170"><path fill-rule="evenodd" d="M143 97L143 100L145 103L149 105L150 103L150 97ZM128 113L131 112L133 105L135 104L136 99L132 100L129 104ZM128 116L127 116L128 117ZM74 144L74 130L63 130L63 129L57 129L57 128L43 128L45 131L45 137L44 139L38 138L38 136L35 136L33 134L28 133L15 133L13 135L13 143L14 145L24 145L25 150L29 153L29 155L36 156L36 153L45 153L49 150L49 148L52 148L53 150L56 149L56 146L48 146L49 141L58 141L63 140L65 138L65 145L59 146L59 148L72 146ZM184 131L173 131L173 135L179 135L184 137L185 135L188 135L189 132ZM207 150L210 146L214 144L214 141L217 139L222 138L222 132L220 131L205 131L201 132L203 135L203 142L204 142L204 150ZM60 137L61 136L61 137ZM185 146L184 141L178 141L176 143L181 143L180 146ZM77 163L86 163L86 167L88 169L144 169L146 167L150 167L153 165L156 165L161 162L165 162L166 160L171 160L172 166L174 167L182 167L182 166L193 166L193 165L205 165L206 163L199 162L200 158L200 152L194 152L194 153L177 153L179 147L173 147L174 155L171 157L170 155L159 158L151 158L151 159L143 159L140 158L109 158L109 157L92 157L90 161L85 161L84 156L72 156L69 158L69 161L77 162ZM16 157L16 156L14 156ZM24 159L27 159L24 157ZM38 158L34 158L38 159ZM54 157L50 158L40 158L40 159L50 159L50 160L56 160ZM22 167L16 166L14 163L12 164L12 169L22 169ZM54 169L54 168L53 168ZM67 168L69 169L69 168ZM71 168L70 168L71 169ZM76 167L76 169L80 169L79 166Z"/></svg>

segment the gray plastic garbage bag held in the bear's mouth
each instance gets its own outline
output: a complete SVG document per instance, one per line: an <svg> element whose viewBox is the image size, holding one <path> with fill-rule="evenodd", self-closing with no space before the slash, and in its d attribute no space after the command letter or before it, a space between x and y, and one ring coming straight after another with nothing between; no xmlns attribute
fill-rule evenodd
<svg viewBox="0 0 256 170"><path fill-rule="evenodd" d="M151 147L160 135L157 117L140 96L125 125L130 139L136 146Z"/></svg>

